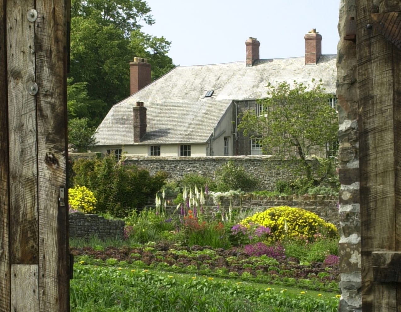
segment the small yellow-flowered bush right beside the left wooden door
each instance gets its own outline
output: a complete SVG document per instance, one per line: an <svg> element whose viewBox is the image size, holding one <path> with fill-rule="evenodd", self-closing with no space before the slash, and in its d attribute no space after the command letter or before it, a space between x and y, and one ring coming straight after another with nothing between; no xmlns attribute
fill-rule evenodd
<svg viewBox="0 0 401 312"><path fill-rule="evenodd" d="M88 213L95 212L97 200L86 186L75 186L68 189L68 203L72 210Z"/></svg>

